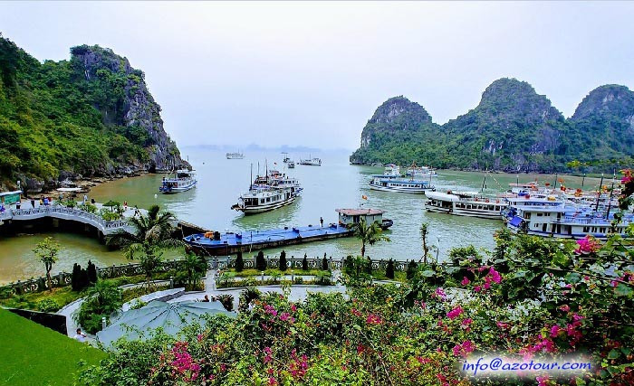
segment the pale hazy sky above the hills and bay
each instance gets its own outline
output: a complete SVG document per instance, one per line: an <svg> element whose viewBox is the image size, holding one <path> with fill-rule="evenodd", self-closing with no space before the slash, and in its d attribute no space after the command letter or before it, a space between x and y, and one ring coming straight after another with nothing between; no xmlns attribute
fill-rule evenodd
<svg viewBox="0 0 634 386"><path fill-rule="evenodd" d="M493 80L526 80L566 117L634 88L634 4L0 3L39 60L100 44L146 73L178 145L356 148L385 99L444 123Z"/></svg>

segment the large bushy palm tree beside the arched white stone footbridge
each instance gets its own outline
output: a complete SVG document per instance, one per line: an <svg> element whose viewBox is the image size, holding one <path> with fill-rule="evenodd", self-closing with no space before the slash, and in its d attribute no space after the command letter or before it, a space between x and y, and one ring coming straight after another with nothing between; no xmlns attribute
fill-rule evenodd
<svg viewBox="0 0 634 386"><path fill-rule="evenodd" d="M159 205L152 205L147 215L128 219L133 231L120 229L106 238L107 245L122 247L127 259L139 258L141 268L145 272L148 289L152 275L163 260L161 249L177 248L183 245L183 241L172 236L172 221L176 221L174 214L160 212Z"/></svg>

